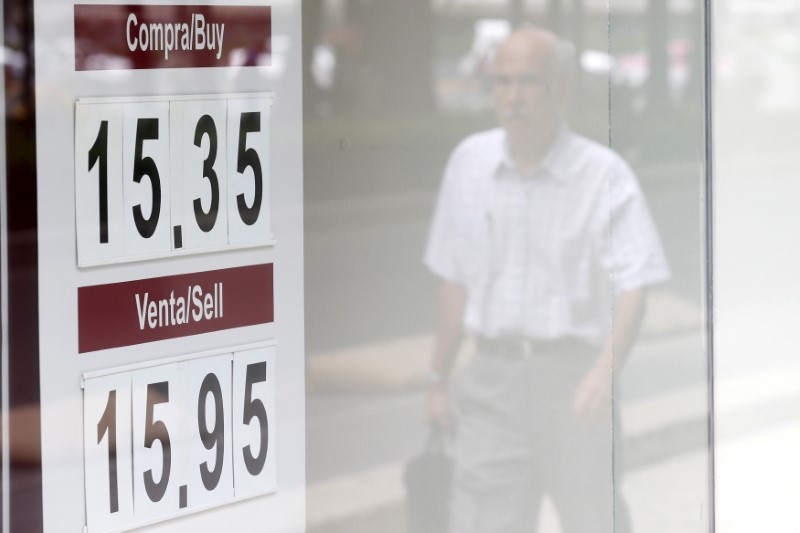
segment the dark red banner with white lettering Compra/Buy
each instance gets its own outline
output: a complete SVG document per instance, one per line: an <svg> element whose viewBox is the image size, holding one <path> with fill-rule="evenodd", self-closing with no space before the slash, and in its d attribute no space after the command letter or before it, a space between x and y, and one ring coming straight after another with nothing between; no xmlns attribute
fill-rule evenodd
<svg viewBox="0 0 800 533"><path fill-rule="evenodd" d="M256 66L271 46L269 6L75 5L78 71Z"/></svg>

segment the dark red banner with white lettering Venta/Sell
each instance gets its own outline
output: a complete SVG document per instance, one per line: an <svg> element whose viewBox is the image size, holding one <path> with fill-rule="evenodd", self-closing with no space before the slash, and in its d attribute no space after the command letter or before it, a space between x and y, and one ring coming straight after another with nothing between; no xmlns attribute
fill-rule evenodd
<svg viewBox="0 0 800 533"><path fill-rule="evenodd" d="M78 288L78 352L275 319L272 264Z"/></svg>

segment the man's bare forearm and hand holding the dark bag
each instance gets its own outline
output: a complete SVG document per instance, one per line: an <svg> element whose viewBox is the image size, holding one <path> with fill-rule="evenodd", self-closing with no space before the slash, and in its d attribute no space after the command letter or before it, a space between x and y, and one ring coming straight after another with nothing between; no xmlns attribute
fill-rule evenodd
<svg viewBox="0 0 800 533"><path fill-rule="evenodd" d="M428 390L428 422L452 428L453 418L447 397L447 379L453 368L463 335L467 291L463 285L443 281L439 287L436 337L431 358Z"/></svg>

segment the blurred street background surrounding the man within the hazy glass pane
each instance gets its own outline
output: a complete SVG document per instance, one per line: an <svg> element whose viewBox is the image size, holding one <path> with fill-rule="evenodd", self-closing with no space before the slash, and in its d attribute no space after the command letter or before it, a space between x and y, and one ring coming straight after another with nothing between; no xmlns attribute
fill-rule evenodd
<svg viewBox="0 0 800 533"><path fill-rule="evenodd" d="M309 531L406 530L403 465L426 438L437 286L421 256L450 152L496 124L488 68L522 24L575 44L570 126L634 168L673 271L651 291L617 376L615 490L636 532L707 531L704 3L320 0L303 10ZM544 505L539 531L560 531Z"/></svg>

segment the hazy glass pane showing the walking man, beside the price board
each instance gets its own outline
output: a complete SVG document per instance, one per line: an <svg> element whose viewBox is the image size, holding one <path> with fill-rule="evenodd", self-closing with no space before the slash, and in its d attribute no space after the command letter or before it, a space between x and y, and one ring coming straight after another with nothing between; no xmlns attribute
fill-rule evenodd
<svg viewBox="0 0 800 533"><path fill-rule="evenodd" d="M703 13L440 7L306 6L309 529L416 531L433 423L451 531L706 531Z"/></svg>

